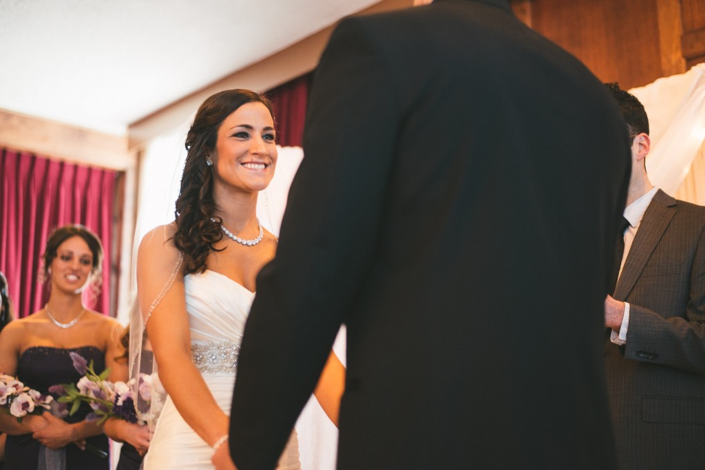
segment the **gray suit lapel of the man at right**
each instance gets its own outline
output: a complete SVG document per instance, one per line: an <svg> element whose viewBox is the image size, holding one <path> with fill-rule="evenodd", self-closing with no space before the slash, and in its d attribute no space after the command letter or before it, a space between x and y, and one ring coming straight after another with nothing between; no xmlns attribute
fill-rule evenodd
<svg viewBox="0 0 705 470"><path fill-rule="evenodd" d="M658 190L646 208L642 223L627 255L622 275L617 281L615 299L625 299L639 280L646 261L656 249L658 241L663 237L668 224L675 215L678 202L665 192Z"/></svg>

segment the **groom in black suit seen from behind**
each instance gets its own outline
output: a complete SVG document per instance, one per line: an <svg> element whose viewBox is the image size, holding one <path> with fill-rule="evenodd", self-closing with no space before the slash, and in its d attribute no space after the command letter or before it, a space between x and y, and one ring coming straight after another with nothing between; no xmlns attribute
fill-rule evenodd
<svg viewBox="0 0 705 470"><path fill-rule="evenodd" d="M273 469L341 323L338 469L614 469L603 299L630 153L504 0L348 18L314 78L231 414Z"/></svg>

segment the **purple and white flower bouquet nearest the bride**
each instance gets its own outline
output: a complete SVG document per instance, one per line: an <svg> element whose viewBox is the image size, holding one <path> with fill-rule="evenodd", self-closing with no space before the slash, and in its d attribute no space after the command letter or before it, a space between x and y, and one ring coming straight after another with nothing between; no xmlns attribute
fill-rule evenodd
<svg viewBox="0 0 705 470"><path fill-rule="evenodd" d="M74 369L82 374L82 377L76 384L64 383L52 385L49 388L50 392L59 395L57 402L64 404L66 407L71 406L68 412L69 415L75 414L81 403L87 403L92 409L92 412L86 416L88 421L97 419L99 424L102 424L109 418L118 418L124 419L129 423L145 424L144 420L137 417L133 392L135 388L134 379L127 383L107 381L106 378L110 373L110 369L106 369L100 374L95 373L93 361L88 364L80 354L75 352L69 354L71 355ZM141 400L149 402L153 386L152 376L140 374L137 392L140 394Z"/></svg>

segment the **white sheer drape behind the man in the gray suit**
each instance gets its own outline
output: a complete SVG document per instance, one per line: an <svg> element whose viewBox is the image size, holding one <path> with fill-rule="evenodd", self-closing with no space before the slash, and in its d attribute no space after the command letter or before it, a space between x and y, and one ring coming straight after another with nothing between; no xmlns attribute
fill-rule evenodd
<svg viewBox="0 0 705 470"><path fill-rule="evenodd" d="M705 63L630 89L649 115L651 183L678 199L705 205Z"/></svg>

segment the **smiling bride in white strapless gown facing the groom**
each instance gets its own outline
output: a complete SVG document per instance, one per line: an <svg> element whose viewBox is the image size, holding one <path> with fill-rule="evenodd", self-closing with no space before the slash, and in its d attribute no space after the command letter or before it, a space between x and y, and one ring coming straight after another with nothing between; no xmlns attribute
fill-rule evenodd
<svg viewBox="0 0 705 470"><path fill-rule="evenodd" d="M140 243L142 316L136 320L146 328L168 393L145 457L147 470L212 469L214 450L226 444L255 278L278 241L256 214L257 193L276 166L273 116L268 99L245 89L204 101L186 137L176 220ZM131 357L135 362L140 359ZM316 395L336 423L342 366L334 354L329 368L333 372L321 375ZM300 469L295 431L278 468Z"/></svg>

